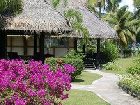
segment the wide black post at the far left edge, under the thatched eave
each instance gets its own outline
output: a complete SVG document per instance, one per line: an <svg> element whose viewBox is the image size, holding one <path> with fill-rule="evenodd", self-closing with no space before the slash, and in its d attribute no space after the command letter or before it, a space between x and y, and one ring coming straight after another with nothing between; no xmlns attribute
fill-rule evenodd
<svg viewBox="0 0 140 105"><path fill-rule="evenodd" d="M0 30L0 59L7 58L7 35L5 30Z"/></svg>

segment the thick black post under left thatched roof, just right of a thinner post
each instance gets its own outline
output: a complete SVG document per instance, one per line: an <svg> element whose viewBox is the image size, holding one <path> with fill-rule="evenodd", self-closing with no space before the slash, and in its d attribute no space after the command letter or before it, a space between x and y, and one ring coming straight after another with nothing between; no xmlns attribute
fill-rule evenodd
<svg viewBox="0 0 140 105"><path fill-rule="evenodd" d="M44 63L44 38L45 38L45 34L44 32L41 32L40 38L39 38L39 52L40 52L40 57L41 57L41 61L42 63Z"/></svg>

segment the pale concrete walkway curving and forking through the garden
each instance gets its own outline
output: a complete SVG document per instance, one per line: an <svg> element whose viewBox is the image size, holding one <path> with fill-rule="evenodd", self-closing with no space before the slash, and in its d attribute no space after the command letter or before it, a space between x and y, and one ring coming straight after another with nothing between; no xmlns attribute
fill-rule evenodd
<svg viewBox="0 0 140 105"><path fill-rule="evenodd" d="M75 85L72 89L91 91L111 105L140 105L140 100L133 98L129 94L119 89L117 83L119 78L112 73L104 73L99 70L86 70L91 73L97 73L103 77L94 81L91 85Z"/></svg>

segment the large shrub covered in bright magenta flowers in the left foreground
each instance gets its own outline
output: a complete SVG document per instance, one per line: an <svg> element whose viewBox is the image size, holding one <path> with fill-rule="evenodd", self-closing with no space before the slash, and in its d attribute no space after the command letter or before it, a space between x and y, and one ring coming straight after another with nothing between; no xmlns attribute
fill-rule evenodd
<svg viewBox="0 0 140 105"><path fill-rule="evenodd" d="M61 105L74 71L69 64L52 71L37 61L0 60L0 105Z"/></svg>

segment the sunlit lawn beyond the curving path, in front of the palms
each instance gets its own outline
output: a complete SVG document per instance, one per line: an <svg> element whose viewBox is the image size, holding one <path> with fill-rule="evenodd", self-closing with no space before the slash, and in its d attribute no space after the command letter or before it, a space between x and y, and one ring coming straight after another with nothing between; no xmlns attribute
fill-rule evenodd
<svg viewBox="0 0 140 105"><path fill-rule="evenodd" d="M111 72L115 74L126 74L126 70L132 66L134 66L136 63L134 62L137 59L137 57L130 57L130 58L119 58L115 61L119 67L121 67L121 70L105 70L105 72Z"/></svg>

